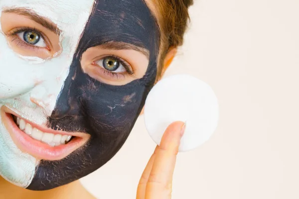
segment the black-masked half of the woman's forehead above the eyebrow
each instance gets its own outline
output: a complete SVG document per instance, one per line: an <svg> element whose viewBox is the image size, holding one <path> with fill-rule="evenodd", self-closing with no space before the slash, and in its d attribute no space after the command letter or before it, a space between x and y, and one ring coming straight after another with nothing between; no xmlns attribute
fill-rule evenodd
<svg viewBox="0 0 299 199"><path fill-rule="evenodd" d="M119 41L155 50L158 27L143 0L98 0L93 7L82 39L83 49ZM83 39L83 40L84 40Z"/></svg>

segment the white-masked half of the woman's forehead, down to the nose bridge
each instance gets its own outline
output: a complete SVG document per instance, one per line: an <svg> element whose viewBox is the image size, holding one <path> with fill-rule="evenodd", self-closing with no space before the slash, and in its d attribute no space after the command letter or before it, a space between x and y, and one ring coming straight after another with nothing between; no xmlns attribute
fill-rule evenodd
<svg viewBox="0 0 299 199"><path fill-rule="evenodd" d="M0 0L0 15L7 8L32 9L63 31L61 45L65 52L73 54L94 3L95 0Z"/></svg>

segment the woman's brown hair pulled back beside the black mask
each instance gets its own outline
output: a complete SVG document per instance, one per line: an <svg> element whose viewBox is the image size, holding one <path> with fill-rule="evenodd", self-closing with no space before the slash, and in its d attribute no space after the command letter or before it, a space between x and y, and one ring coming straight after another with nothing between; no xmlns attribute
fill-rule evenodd
<svg viewBox="0 0 299 199"><path fill-rule="evenodd" d="M158 76L161 75L163 62L171 47L183 44L183 36L187 29L188 7L193 0L154 0L156 15L161 32L160 55L158 59ZM159 77L158 77L159 78Z"/></svg>

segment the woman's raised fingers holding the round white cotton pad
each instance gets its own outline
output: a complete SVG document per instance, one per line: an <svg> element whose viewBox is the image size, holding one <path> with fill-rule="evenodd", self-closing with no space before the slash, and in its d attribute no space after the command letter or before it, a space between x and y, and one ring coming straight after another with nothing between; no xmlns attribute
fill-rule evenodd
<svg viewBox="0 0 299 199"><path fill-rule="evenodd" d="M172 176L184 129L179 121L167 127L139 181L137 199L171 199Z"/></svg>

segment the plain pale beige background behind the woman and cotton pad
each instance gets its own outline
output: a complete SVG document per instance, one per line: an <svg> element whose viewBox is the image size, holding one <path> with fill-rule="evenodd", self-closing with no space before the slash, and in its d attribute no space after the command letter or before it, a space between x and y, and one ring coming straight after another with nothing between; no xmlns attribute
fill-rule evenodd
<svg viewBox="0 0 299 199"><path fill-rule="evenodd" d="M299 199L299 0L195 0L167 76L215 91L219 125L178 155L172 199ZM100 199L134 199L155 147L140 117L121 151L85 177Z"/></svg>

